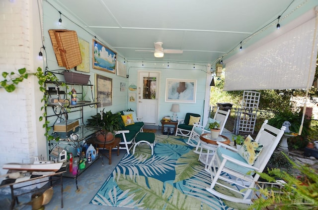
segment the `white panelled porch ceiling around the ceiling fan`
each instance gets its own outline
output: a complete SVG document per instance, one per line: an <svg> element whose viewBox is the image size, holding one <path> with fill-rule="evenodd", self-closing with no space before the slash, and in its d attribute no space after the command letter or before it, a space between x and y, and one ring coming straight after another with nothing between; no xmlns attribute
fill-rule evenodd
<svg viewBox="0 0 318 210"><path fill-rule="evenodd" d="M276 21L292 0L55 1L63 8L62 19L64 14L74 15L126 60L213 63ZM290 9L300 1L295 0ZM136 52L154 50L156 41L163 42L163 49L183 53L155 58L153 52Z"/></svg>

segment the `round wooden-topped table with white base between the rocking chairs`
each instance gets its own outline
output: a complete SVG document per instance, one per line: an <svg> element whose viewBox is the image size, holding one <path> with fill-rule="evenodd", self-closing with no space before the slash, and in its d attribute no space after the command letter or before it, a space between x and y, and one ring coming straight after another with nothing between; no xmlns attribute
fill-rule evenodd
<svg viewBox="0 0 318 210"><path fill-rule="evenodd" d="M229 145L231 143L230 139L226 136L223 136L223 135L219 135L219 137L217 139L213 139L211 137L210 133L204 133L204 134L200 135L201 150L200 150L199 160L205 164L204 169L206 169L206 170L208 169L208 165L210 162L209 157L214 155L216 149L218 148L217 142L222 142L223 144L226 144L226 145ZM198 147L199 147L199 144L198 144L197 148ZM206 154L202 154L203 148L207 150ZM210 151L212 153L210 153Z"/></svg>

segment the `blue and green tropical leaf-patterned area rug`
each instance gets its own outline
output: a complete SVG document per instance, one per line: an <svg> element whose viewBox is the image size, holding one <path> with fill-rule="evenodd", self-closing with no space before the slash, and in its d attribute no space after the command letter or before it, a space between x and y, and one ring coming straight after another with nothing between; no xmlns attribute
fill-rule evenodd
<svg viewBox="0 0 318 210"><path fill-rule="evenodd" d="M206 190L210 174L185 140L156 135L153 156L149 145L137 146L135 155L120 160L90 204L147 210L247 209Z"/></svg>

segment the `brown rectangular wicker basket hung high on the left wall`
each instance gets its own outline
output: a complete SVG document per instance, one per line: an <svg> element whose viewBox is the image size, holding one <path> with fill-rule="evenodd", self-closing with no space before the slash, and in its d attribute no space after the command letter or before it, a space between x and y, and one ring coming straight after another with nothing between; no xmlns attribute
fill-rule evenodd
<svg viewBox="0 0 318 210"><path fill-rule="evenodd" d="M59 66L71 69L82 62L76 31L50 29L49 34Z"/></svg>

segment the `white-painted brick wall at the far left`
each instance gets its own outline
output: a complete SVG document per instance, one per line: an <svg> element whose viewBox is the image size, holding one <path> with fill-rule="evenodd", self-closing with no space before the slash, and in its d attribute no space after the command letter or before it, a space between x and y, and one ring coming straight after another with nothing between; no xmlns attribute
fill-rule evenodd
<svg viewBox="0 0 318 210"><path fill-rule="evenodd" d="M17 72L23 67L35 72L34 66L43 65L35 56L42 46L36 3L0 0L0 73ZM34 76L20 83L13 93L0 88L0 174L7 171L2 169L4 163L27 163L45 147L37 140L44 132L42 122L37 120L41 114L40 93Z"/></svg>

